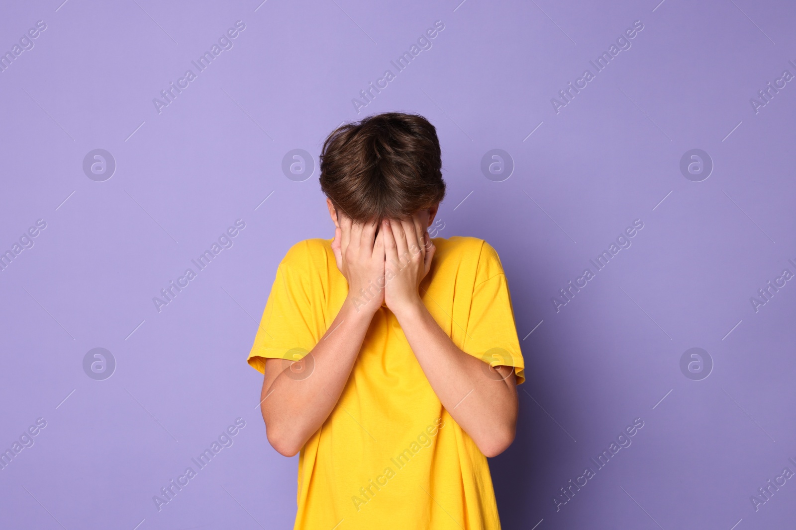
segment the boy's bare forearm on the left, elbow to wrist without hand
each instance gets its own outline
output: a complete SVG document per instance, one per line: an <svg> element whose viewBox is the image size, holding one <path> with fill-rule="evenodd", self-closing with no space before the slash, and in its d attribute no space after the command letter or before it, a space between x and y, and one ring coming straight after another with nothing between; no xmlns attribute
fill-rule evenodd
<svg viewBox="0 0 796 530"><path fill-rule="evenodd" d="M373 319L373 311L365 309L357 311L345 300L326 334L302 360L306 373L291 372L283 359L267 360L260 408L268 441L282 455L295 455L338 403ZM270 373L275 377L269 378Z"/></svg>

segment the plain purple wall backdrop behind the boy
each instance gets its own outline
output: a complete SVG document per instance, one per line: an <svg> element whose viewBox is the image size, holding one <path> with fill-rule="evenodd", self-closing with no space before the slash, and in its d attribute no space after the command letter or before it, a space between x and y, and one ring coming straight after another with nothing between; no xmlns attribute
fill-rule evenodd
<svg viewBox="0 0 796 530"><path fill-rule="evenodd" d="M509 277L505 528L793 525L792 2L260 1L3 6L0 527L291 527L245 357L281 257L333 235L323 138L388 110L438 128L435 235Z"/></svg>

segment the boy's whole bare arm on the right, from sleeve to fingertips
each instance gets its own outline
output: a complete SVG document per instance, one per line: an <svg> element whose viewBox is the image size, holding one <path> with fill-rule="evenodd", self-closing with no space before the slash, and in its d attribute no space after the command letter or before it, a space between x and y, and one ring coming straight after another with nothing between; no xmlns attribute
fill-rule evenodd
<svg viewBox="0 0 796 530"><path fill-rule="evenodd" d="M484 455L501 454L513 442L517 425L513 367L490 368L460 350L423 305L419 283L435 251L425 228L417 222L392 221L383 231L387 267L394 273L385 288L388 308L443 407Z"/></svg>

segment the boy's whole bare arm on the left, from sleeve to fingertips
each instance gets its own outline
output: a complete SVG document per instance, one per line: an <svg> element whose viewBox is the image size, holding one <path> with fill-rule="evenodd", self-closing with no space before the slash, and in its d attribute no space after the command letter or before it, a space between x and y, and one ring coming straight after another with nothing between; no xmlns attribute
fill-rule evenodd
<svg viewBox="0 0 796 530"><path fill-rule="evenodd" d="M281 455L293 456L326 418L348 381L353 364L381 300L357 308L351 293L384 274L384 245L376 225L340 222L332 248L349 282L338 315L317 345L301 361L267 359L260 394L268 442ZM300 369L296 369L297 366Z"/></svg>

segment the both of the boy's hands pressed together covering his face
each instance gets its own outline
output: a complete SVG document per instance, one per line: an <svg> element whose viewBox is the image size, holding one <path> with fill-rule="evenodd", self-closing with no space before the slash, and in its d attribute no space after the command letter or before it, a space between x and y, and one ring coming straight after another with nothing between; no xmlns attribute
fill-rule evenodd
<svg viewBox="0 0 796 530"><path fill-rule="evenodd" d="M338 225L332 250L357 311L375 312L384 302L397 313L422 304L419 285L436 251L423 216L384 220L377 230L376 222L338 215Z"/></svg>

